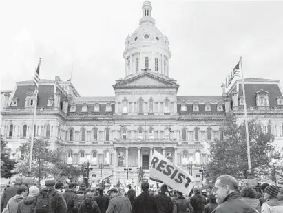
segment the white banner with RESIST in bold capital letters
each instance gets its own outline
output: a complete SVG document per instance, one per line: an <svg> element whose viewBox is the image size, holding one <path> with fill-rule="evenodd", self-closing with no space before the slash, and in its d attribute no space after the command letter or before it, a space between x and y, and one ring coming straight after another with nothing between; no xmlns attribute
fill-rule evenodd
<svg viewBox="0 0 283 213"><path fill-rule="evenodd" d="M188 172L174 165L157 151L154 151L151 159L149 178L153 181L165 183L184 194L189 194L194 186L193 177Z"/></svg>

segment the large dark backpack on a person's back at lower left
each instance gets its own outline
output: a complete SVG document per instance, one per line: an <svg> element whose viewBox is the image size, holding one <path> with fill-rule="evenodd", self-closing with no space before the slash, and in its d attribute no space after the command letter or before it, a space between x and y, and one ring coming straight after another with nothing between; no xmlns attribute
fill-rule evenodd
<svg viewBox="0 0 283 213"><path fill-rule="evenodd" d="M35 213L53 213L54 212L54 194L48 193L47 190L43 190L37 198L35 204Z"/></svg>

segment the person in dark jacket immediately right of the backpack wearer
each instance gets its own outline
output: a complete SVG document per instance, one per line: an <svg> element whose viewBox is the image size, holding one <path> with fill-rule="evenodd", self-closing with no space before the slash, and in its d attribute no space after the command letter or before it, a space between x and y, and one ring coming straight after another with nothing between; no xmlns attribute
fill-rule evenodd
<svg viewBox="0 0 283 213"><path fill-rule="evenodd" d="M76 194L76 183L69 183L69 189L65 190L63 197L67 203L67 212L78 212L78 195Z"/></svg>

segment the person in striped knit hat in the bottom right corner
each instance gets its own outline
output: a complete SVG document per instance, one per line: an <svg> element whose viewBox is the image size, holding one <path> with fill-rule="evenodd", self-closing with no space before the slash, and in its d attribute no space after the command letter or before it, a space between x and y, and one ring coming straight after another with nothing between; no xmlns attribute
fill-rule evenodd
<svg viewBox="0 0 283 213"><path fill-rule="evenodd" d="M277 195L279 189L277 186L269 185L264 190L265 203L262 204L262 213L266 212L283 212L283 203L278 201Z"/></svg>

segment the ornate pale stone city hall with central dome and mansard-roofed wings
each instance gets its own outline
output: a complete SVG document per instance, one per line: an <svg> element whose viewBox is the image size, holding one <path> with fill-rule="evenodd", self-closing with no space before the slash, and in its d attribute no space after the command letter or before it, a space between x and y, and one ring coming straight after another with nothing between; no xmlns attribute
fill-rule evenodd
<svg viewBox="0 0 283 213"><path fill-rule="evenodd" d="M222 85L219 96L178 96L178 83L170 78L169 40L155 25L151 3L143 3L138 28L125 41L124 76L112 86L110 97L81 96L72 82L58 76L39 80L35 137L48 137L52 148L65 151L65 163L81 166L89 161L91 181L111 177L112 183L136 183L142 167L149 178L154 151L181 168L192 165L196 185L209 158L209 141L223 138L227 113L244 119L240 78ZM122 73L122 72L121 72ZM106 82L111 87L112 82ZM249 117L257 117L265 131L283 144L283 97L279 80L244 80ZM1 134L12 155L31 137L34 83L16 82L5 96ZM125 172L125 169L127 170Z"/></svg>

